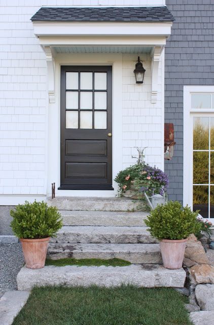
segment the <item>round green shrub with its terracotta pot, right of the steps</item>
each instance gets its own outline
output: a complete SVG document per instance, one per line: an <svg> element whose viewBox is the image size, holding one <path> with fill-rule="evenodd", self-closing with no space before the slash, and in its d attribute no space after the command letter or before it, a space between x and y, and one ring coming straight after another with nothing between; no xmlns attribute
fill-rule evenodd
<svg viewBox="0 0 214 325"><path fill-rule="evenodd" d="M150 212L146 225L153 237L160 240L163 266L180 269L183 264L187 237L200 230L197 222L198 211L183 207L178 201L158 205Z"/></svg>

